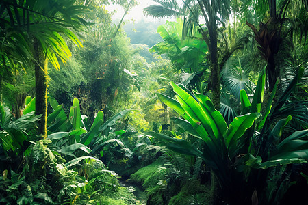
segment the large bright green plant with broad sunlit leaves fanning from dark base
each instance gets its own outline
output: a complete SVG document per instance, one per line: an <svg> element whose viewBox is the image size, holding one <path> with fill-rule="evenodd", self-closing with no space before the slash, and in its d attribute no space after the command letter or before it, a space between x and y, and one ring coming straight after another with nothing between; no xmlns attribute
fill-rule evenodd
<svg viewBox="0 0 308 205"><path fill-rule="evenodd" d="M238 153L237 141L245 133L246 129L260 116L259 113L248 113L236 117L229 128L223 116L214 108L207 96L192 94L182 85L171 82L173 90L177 94L172 99L164 94L158 94L159 99L166 105L177 111L183 117L176 118L175 123L194 137L204 141L203 148L198 149L184 139L172 138L161 133L147 133L168 141L167 147L182 154L199 156L205 163L215 170L224 187L231 184L229 166Z"/></svg>

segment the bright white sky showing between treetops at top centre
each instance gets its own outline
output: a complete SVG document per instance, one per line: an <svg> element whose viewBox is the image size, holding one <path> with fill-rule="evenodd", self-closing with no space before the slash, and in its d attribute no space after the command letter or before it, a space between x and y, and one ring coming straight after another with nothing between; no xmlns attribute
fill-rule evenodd
<svg viewBox="0 0 308 205"><path fill-rule="evenodd" d="M125 16L125 20L136 20L136 22L144 19L145 21L155 21L152 17L146 17L143 9L149 5L157 4L153 0L137 0L140 4L133 7ZM125 10L121 8L119 5L107 5L107 10L112 12L113 10L117 10L117 12L112 16L112 20L121 19Z"/></svg>

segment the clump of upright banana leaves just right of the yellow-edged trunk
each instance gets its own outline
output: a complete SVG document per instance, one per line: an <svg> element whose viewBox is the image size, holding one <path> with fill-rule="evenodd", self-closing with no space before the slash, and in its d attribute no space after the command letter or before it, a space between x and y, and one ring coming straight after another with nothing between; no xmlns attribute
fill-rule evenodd
<svg viewBox="0 0 308 205"><path fill-rule="evenodd" d="M53 112L47 118L49 130L48 138L57 146L57 151L71 156L91 156L102 153L103 147L107 143L118 143L120 141L108 141L104 135L108 135L110 127L114 126L117 120L123 118L129 110L120 111L112 118L103 121L103 111L99 111L92 124L88 122L86 115L81 115L79 100L73 100L73 106L70 107L68 118L62 108L54 98L49 98L49 103Z"/></svg>

